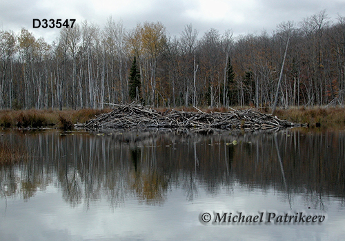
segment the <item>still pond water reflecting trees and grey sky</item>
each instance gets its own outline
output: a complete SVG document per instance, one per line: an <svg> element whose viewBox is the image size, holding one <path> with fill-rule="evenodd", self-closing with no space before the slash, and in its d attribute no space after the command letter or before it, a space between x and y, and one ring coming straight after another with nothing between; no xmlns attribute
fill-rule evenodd
<svg viewBox="0 0 345 241"><path fill-rule="evenodd" d="M344 240L345 132L308 131L3 131L0 240Z"/></svg>

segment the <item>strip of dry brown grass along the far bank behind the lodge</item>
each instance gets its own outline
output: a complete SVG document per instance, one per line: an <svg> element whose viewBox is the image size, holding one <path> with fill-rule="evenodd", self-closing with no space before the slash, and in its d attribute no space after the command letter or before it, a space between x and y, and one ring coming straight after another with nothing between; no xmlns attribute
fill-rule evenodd
<svg viewBox="0 0 345 241"><path fill-rule="evenodd" d="M255 109L262 114L270 114L270 107L259 109L253 107L157 107L152 108L159 113L170 112L172 110L184 112L205 112L224 113L234 109ZM113 109L79 109L79 110L52 110L52 109L27 109L27 110L0 110L0 127L23 128L23 129L43 129L46 127L62 130L73 129L77 123L86 123L100 114L109 113ZM277 108L273 116L281 120L290 121L295 124L302 124L308 127L344 127L345 107L289 107L288 109Z"/></svg>

